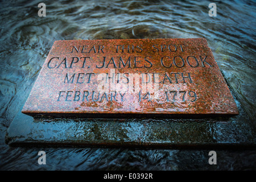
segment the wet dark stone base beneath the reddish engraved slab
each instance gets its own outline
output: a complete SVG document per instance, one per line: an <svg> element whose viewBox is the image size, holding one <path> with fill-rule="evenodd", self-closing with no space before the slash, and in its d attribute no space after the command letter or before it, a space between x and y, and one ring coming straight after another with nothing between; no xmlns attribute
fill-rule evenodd
<svg viewBox="0 0 256 182"><path fill-rule="evenodd" d="M33 118L20 111L7 130L6 143L38 147L256 147L254 123L233 97L240 111L233 117Z"/></svg>

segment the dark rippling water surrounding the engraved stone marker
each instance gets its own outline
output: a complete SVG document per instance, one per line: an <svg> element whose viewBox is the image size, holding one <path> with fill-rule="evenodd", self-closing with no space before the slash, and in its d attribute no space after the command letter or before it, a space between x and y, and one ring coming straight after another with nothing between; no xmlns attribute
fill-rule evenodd
<svg viewBox="0 0 256 182"><path fill-rule="evenodd" d="M46 4L46 17L38 4ZM206 38L213 55L254 121L256 2L214 1L1 1L0 169L255 169L254 150L136 150L131 148L13 148L5 134L22 107L55 40ZM255 124L256 125L256 124ZM47 165L37 163L39 150Z"/></svg>

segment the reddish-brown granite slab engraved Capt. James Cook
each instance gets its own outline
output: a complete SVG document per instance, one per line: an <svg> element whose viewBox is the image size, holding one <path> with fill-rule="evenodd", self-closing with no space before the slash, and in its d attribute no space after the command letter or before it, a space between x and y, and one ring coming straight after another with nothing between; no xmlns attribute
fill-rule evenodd
<svg viewBox="0 0 256 182"><path fill-rule="evenodd" d="M59 40L22 113L230 115L238 109L203 38Z"/></svg>

